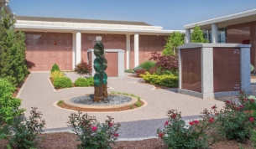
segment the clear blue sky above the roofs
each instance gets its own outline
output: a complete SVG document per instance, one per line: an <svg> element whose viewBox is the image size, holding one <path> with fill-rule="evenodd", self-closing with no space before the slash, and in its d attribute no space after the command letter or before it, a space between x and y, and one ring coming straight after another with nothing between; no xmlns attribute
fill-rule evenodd
<svg viewBox="0 0 256 149"><path fill-rule="evenodd" d="M256 9L256 0L9 0L18 16L139 21L166 30Z"/></svg>

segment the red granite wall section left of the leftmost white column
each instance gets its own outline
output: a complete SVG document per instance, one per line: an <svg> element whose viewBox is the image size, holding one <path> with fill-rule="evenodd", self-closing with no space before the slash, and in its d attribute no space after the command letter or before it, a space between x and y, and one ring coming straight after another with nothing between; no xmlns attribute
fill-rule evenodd
<svg viewBox="0 0 256 149"><path fill-rule="evenodd" d="M53 64L62 70L72 69L72 33L25 32L26 59L32 71L49 71Z"/></svg>

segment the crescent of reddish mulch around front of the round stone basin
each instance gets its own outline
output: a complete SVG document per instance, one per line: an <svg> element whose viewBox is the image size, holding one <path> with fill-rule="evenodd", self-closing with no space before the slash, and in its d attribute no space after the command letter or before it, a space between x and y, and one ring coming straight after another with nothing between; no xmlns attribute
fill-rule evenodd
<svg viewBox="0 0 256 149"><path fill-rule="evenodd" d="M62 101L62 104L57 104L61 108L69 109L69 110L79 110L79 111L96 111L96 112L104 112L104 111L122 111L122 110L131 110L131 106L124 106L120 108L114 108L114 109L90 109L90 108L79 108L79 107L73 107L70 105L65 105ZM144 102L140 100L140 105L144 105ZM133 105L133 109L138 108L136 104Z"/></svg>

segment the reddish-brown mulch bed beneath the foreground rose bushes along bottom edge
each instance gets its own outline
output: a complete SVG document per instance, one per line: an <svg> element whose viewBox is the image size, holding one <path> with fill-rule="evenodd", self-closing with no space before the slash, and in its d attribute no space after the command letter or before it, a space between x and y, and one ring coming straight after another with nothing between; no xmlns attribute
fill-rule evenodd
<svg viewBox="0 0 256 149"><path fill-rule="evenodd" d="M38 149L76 149L76 144L80 141L76 141L76 135L69 132L59 133L46 133L40 136L44 136L43 140L39 140L37 145ZM0 140L0 148L6 149L8 141ZM245 149L253 149L251 141L243 144ZM116 145L111 145L112 149L167 149L164 142L160 139L147 139L143 141L117 141ZM220 141L210 146L209 149L239 149L237 141Z"/></svg>

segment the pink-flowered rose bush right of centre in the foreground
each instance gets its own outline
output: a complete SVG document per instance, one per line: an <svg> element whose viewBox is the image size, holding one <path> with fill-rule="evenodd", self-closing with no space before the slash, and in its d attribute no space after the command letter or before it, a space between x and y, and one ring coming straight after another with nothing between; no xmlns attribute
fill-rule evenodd
<svg viewBox="0 0 256 149"><path fill-rule="evenodd" d="M206 148L208 146L206 130L209 123L190 121L190 126L185 126L185 121L177 110L169 110L167 116L165 128L158 129L157 134L168 148Z"/></svg>

